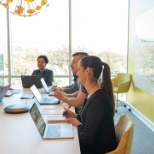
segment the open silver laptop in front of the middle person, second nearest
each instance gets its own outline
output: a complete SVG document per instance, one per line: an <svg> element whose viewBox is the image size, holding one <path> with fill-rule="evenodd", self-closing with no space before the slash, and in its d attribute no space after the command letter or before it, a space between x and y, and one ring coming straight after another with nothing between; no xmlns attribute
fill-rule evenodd
<svg viewBox="0 0 154 154"><path fill-rule="evenodd" d="M50 97L43 97L41 95L41 93L38 91L38 89L36 88L35 85L32 85L30 87L31 92L34 94L34 96L36 97L37 101L39 104L41 105L55 105L55 104L59 104L60 100L50 96Z"/></svg>

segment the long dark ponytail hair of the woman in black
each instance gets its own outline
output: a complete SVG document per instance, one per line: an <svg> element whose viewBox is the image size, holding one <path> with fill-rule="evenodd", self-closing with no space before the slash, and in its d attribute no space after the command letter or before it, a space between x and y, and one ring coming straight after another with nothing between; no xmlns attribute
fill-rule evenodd
<svg viewBox="0 0 154 154"><path fill-rule="evenodd" d="M86 69L87 67L92 69L93 77L96 82L100 78L100 75L102 73L102 82L101 82L101 88L104 89L111 98L111 106L113 110L113 115L115 112L115 101L114 101L114 95L113 95L113 86L111 82L111 73L110 73L110 67L107 63L102 62L101 59L97 56L87 56L81 59L80 62L81 66Z"/></svg>

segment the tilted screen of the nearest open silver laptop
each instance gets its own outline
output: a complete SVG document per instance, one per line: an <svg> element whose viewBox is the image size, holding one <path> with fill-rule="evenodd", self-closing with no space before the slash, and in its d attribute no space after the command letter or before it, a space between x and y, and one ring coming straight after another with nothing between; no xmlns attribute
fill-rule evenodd
<svg viewBox="0 0 154 154"><path fill-rule="evenodd" d="M45 124L43 117L42 117L42 115L35 103L33 104L32 108L30 109L30 114L31 114L31 117L32 117L40 135L43 137L46 124Z"/></svg>

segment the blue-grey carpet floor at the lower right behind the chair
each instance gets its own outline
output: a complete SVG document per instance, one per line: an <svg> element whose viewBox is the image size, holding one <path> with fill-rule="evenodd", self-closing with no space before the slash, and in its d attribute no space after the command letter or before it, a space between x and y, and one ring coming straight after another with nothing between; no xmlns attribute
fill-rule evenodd
<svg viewBox="0 0 154 154"><path fill-rule="evenodd" d="M123 105L120 105L118 111L115 113L115 123L117 123L121 114L128 114L134 121L131 154L154 154L154 132Z"/></svg>

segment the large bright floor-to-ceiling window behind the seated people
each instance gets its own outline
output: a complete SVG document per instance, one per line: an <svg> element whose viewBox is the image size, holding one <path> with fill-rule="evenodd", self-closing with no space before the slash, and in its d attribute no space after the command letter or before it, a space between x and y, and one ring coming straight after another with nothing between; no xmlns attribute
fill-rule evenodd
<svg viewBox="0 0 154 154"><path fill-rule="evenodd" d="M1 9L3 21L5 14ZM0 25L1 84L10 78L11 84L21 84L20 75L31 75L42 54L48 56L47 68L60 86L71 82L69 65L77 51L99 56L112 73L127 71L128 0L55 0L38 15L10 14L9 21L10 48L7 22Z"/></svg>

